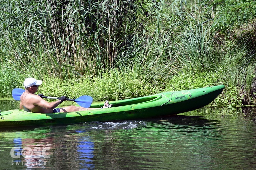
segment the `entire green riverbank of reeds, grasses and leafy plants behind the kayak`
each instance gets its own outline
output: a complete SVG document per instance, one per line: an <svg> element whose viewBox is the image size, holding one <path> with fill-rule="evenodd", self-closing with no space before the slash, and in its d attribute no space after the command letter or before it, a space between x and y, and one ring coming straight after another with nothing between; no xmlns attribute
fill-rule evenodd
<svg viewBox="0 0 256 170"><path fill-rule="evenodd" d="M0 97L119 100L224 84L212 103L256 105L256 2L2 0Z"/></svg>

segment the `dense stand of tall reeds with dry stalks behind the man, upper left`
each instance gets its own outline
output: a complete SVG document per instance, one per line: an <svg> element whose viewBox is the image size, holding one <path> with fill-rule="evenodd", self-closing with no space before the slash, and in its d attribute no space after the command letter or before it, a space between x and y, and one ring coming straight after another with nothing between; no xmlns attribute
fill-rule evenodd
<svg viewBox="0 0 256 170"><path fill-rule="evenodd" d="M138 24L129 1L0 3L1 62L61 79L111 68Z"/></svg>

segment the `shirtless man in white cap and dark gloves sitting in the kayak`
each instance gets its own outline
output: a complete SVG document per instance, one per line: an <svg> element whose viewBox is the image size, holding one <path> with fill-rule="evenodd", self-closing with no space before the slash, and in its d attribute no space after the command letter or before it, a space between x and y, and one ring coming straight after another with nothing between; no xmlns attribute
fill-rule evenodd
<svg viewBox="0 0 256 170"><path fill-rule="evenodd" d="M36 80L34 78L27 78L24 81L25 92L20 96L20 109L24 109L28 112L35 113L58 113L58 112L75 112L75 111L87 111L99 108L84 108L78 106L67 106L62 108L56 108L60 103L62 103L66 96L61 96L59 100L54 102L47 102L43 100L43 94L35 95L38 87L42 84L42 80ZM101 108L109 108L112 104L108 101L105 102L104 106Z"/></svg>

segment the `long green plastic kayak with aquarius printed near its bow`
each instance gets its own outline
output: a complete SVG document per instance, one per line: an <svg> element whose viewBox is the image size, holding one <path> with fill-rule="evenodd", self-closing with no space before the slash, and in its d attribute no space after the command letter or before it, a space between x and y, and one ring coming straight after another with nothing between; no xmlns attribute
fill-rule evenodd
<svg viewBox="0 0 256 170"><path fill-rule="evenodd" d="M211 103L224 89L224 85L192 90L163 92L155 95L109 102L105 109L66 113L31 113L10 110L0 113L0 127L52 126L89 121L118 121L168 116L201 108ZM98 108L104 103L92 104Z"/></svg>

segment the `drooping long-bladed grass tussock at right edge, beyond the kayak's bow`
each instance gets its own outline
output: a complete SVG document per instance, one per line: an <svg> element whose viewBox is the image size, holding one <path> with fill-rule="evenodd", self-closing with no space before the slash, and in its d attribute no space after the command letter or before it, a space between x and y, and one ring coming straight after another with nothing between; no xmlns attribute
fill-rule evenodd
<svg viewBox="0 0 256 170"><path fill-rule="evenodd" d="M222 63L215 67L221 72L223 80L228 82L237 91L237 105L250 105L253 90L253 80L256 75L256 64L247 58L245 47L234 48L223 56Z"/></svg>

